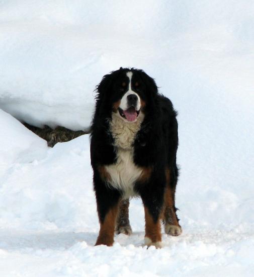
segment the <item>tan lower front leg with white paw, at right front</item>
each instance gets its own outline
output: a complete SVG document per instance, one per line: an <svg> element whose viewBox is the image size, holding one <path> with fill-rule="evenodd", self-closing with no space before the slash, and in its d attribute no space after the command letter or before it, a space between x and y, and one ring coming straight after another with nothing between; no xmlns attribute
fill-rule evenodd
<svg viewBox="0 0 254 277"><path fill-rule="evenodd" d="M156 248L161 248L161 230L160 220L154 222L148 208L145 206L145 245L147 247L154 245Z"/></svg>

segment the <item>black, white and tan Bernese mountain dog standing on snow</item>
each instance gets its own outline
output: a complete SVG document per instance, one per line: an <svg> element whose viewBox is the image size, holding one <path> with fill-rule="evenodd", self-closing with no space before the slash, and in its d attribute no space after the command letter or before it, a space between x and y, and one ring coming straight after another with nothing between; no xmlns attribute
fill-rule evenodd
<svg viewBox="0 0 254 277"><path fill-rule="evenodd" d="M130 234L129 198L140 196L145 245L161 247L166 234L182 233L176 215L177 112L144 71L120 68L96 87L91 164L100 221L95 245L112 246L114 233Z"/></svg>

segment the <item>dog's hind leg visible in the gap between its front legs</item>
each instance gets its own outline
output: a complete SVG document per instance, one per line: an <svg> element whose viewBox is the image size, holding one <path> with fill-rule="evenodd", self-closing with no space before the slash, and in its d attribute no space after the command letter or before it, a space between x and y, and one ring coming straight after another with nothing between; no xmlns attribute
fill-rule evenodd
<svg viewBox="0 0 254 277"><path fill-rule="evenodd" d="M116 223L116 233L130 235L132 229L129 221L129 199L124 199L120 202L119 212Z"/></svg>

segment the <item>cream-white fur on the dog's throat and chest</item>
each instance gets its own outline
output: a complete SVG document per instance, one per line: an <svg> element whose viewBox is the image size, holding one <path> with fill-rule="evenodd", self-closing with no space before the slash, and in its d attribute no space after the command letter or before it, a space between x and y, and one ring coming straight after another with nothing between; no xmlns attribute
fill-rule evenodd
<svg viewBox="0 0 254 277"><path fill-rule="evenodd" d="M110 185L121 190L124 198L135 196L133 186L142 174L142 168L137 167L133 162L132 147L142 120L143 114L138 116L136 122L126 123L113 113L110 123L111 132L115 139L117 162L105 168L110 175Z"/></svg>

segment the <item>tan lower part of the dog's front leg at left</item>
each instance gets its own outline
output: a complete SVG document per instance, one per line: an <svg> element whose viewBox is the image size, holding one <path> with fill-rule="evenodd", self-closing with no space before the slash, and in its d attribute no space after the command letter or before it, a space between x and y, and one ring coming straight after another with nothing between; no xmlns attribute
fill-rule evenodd
<svg viewBox="0 0 254 277"><path fill-rule="evenodd" d="M101 222L100 233L95 245L113 245L118 206L119 205L117 204L111 210L109 210L104 222Z"/></svg>

